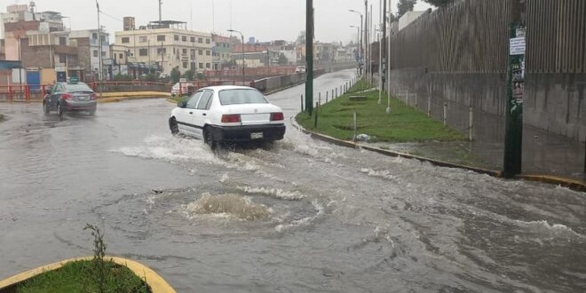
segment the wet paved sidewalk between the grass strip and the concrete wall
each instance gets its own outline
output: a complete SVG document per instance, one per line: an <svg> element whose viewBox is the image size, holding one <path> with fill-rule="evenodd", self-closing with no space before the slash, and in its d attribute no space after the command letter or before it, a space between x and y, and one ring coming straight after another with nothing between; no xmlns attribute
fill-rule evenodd
<svg viewBox="0 0 586 293"><path fill-rule="evenodd" d="M403 89L407 88L403 87ZM427 97L427 93L417 93L416 98L415 93L409 89L409 97L405 95L405 91L397 92L395 97L408 103L411 107L417 107L424 113L427 112L429 99L432 118L438 121L443 121L443 107L444 103L447 103L447 124L468 136L469 107L447 100L433 99L433 97ZM401 153L423 155L447 162L471 164L474 167L489 170L502 170L504 126L504 117L474 111L473 141L471 142L374 143L367 145ZM524 175L551 175L586 182L585 153L583 143L529 125L524 126L522 165Z"/></svg>

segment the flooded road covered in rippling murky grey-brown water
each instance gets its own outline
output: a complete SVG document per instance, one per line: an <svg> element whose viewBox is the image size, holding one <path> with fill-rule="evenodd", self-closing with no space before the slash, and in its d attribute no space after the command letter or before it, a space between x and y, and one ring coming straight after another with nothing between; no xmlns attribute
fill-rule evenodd
<svg viewBox="0 0 586 293"><path fill-rule="evenodd" d="M330 91L352 71L323 75ZM273 94L297 113L304 86ZM580 292L586 197L310 139L213 154L162 100L96 117L0 104L0 278L91 255L180 292Z"/></svg>

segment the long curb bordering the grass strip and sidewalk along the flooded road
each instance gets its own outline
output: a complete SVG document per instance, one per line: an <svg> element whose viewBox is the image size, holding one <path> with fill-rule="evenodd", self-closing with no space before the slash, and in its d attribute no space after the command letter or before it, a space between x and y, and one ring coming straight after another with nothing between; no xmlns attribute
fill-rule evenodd
<svg viewBox="0 0 586 293"><path fill-rule="evenodd" d="M487 170L487 169L482 169L482 168L476 168L476 167L456 164L453 162L443 162L443 161L433 160L430 158L425 158L425 157L421 157L421 156L417 156L417 155L413 155L413 154L403 154L403 153L399 153L399 152L385 150L385 149L382 149L379 147L369 147L369 146L353 143L352 141L346 141L346 140L332 138L332 137L329 137L329 136L321 134L321 133L306 130L305 128L303 128L301 125L299 125L297 123L297 121L295 120L295 117L291 117L290 119L291 119L291 124L293 125L293 127L297 128L297 130L302 131L305 134L309 134L312 139L320 139L320 140L335 144L340 147L366 149L368 151L375 152L378 154L384 154L384 155L393 156L393 157L403 157L403 158L408 158L408 159L415 159L420 162L429 162L429 163L432 163L433 165L439 166L439 167L471 170L471 171L479 173L479 174L486 174L486 175L489 175L489 176L492 176L495 178L503 178L502 172L497 171L497 170ZM535 174L535 175L533 175L533 174L518 175L515 178L527 180L527 181L535 181L535 182L541 182L541 183L547 183L547 184L554 184L554 185L558 185L558 186L567 187L567 188L572 189L574 191L586 192L586 183L578 181L578 180L570 179L570 178L561 178L561 177L556 177L556 176L537 175L537 174Z"/></svg>

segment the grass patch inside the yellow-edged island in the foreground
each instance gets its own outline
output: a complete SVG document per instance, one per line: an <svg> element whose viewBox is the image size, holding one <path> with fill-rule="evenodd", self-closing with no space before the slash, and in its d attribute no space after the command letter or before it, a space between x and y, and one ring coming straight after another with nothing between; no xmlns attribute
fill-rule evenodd
<svg viewBox="0 0 586 293"><path fill-rule="evenodd" d="M105 261L105 292L151 292L148 285L123 265ZM17 293L99 292L98 273L92 260L67 263L55 271L42 273L20 284Z"/></svg>

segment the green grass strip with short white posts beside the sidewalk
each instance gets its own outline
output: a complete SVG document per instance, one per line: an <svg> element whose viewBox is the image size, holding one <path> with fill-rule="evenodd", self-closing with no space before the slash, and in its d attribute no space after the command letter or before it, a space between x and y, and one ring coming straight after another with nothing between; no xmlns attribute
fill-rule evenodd
<svg viewBox="0 0 586 293"><path fill-rule="evenodd" d="M356 111L358 134L373 137L371 141L426 142L461 141L465 137L459 131L444 126L427 117L415 107L405 105L399 99L391 99L391 114L386 114L386 99L378 105L378 91L363 91L364 83L357 83L350 91L329 101L318 109L318 126L314 127L315 111L297 115L297 123L305 129L317 131L337 139L351 140L353 131L352 114ZM364 101L351 101L350 96L366 96ZM383 95L385 97L385 95ZM315 99L315 98L314 98Z"/></svg>

